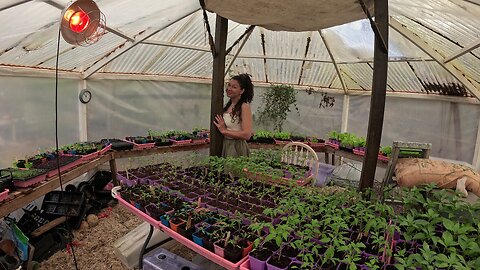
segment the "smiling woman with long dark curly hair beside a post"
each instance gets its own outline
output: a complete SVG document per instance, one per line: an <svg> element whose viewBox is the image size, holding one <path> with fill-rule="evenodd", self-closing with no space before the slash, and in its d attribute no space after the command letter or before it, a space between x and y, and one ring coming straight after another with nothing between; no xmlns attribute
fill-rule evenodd
<svg viewBox="0 0 480 270"><path fill-rule="evenodd" d="M248 74L233 76L226 89L230 100L223 108L223 116L215 116L213 122L223 134L223 157L250 155L247 140L252 136L253 84Z"/></svg>

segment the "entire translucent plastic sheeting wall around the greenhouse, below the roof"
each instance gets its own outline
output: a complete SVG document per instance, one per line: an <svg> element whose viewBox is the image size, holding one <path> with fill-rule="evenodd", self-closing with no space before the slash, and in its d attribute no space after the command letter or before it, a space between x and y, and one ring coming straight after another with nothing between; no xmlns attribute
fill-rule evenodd
<svg viewBox="0 0 480 270"><path fill-rule="evenodd" d="M0 166L55 145L54 79L0 77ZM145 135L149 129L191 130L210 127L210 92L206 84L91 80L87 107L88 138ZM78 81L59 84L59 143L79 139ZM255 89L256 117L262 88ZM340 130L343 98L333 108L319 108L319 94L299 91L300 114L289 114L284 130L323 137ZM350 97L348 130L366 136L370 96ZM394 140L431 142L432 156L472 162L480 106L444 101L387 98L382 145ZM258 125L254 125L258 130Z"/></svg>

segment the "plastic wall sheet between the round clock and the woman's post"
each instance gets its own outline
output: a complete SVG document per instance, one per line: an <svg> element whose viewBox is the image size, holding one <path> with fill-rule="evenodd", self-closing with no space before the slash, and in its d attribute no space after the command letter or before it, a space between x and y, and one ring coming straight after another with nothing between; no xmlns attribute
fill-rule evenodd
<svg viewBox="0 0 480 270"><path fill-rule="evenodd" d="M206 84L92 80L87 104L88 138L124 138L194 127L210 128L210 91Z"/></svg>

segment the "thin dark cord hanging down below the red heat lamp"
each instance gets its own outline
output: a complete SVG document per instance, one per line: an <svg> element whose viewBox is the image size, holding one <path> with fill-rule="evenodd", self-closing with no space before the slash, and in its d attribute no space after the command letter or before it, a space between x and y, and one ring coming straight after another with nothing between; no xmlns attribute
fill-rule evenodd
<svg viewBox="0 0 480 270"><path fill-rule="evenodd" d="M62 201L63 196L63 183L62 183L62 174L60 173L60 153L58 151L58 59L60 56L60 28L62 25L58 27L58 36L57 36L57 54L55 59L55 154L57 155L57 173L58 173L58 180L60 181L60 201ZM67 216L67 202L65 203L65 224L67 226L67 231L73 240L73 234L70 230L69 219ZM75 269L78 270L77 258L75 257L75 249L74 245L70 245L72 255L73 255L73 262L75 263Z"/></svg>

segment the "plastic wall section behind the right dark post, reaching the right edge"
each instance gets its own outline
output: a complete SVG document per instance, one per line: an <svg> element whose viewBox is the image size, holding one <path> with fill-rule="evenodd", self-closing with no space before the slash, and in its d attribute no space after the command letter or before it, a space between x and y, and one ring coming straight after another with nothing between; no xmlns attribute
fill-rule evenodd
<svg viewBox="0 0 480 270"><path fill-rule="evenodd" d="M366 136L370 96L350 97L348 131ZM382 145L432 143L431 156L472 163L480 106L387 97Z"/></svg>

